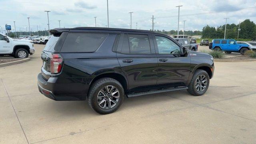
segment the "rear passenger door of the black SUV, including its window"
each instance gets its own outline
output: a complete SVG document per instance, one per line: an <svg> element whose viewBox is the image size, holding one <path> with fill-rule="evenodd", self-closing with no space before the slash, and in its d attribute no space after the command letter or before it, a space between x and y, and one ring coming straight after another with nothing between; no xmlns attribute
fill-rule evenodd
<svg viewBox="0 0 256 144"><path fill-rule="evenodd" d="M116 55L129 89L156 84L158 62L151 35L121 34Z"/></svg>

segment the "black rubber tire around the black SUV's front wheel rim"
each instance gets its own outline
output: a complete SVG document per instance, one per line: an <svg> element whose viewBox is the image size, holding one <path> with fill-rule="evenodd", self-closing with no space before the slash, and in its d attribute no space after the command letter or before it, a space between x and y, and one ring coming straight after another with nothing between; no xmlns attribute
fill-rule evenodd
<svg viewBox="0 0 256 144"><path fill-rule="evenodd" d="M199 78L199 76L205 76L205 78L206 78L206 87L204 88L204 90L202 91L202 92L200 92L200 89L199 89L199 91L197 90L197 86L198 85L196 85L196 81L197 81L197 79ZM205 80L205 79L204 79ZM194 96L202 96L206 91L207 91L207 89L208 89L208 87L209 87L209 84L210 84L210 78L209 78L209 75L208 75L208 73L205 71L205 70L196 70L195 72L194 72L194 75L193 75L193 77L192 77L192 80L190 81L190 84L188 85L188 92L190 93L190 94L192 94L192 95L194 95ZM201 84L200 86L202 86L202 87L204 87L205 85L203 85L203 84Z"/></svg>

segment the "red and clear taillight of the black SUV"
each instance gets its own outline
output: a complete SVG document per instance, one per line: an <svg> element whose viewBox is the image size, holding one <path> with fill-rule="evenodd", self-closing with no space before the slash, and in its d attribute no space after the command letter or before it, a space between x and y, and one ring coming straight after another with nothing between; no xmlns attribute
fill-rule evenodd
<svg viewBox="0 0 256 144"><path fill-rule="evenodd" d="M62 68L62 57L60 54L52 54L50 57L51 74L58 74Z"/></svg>

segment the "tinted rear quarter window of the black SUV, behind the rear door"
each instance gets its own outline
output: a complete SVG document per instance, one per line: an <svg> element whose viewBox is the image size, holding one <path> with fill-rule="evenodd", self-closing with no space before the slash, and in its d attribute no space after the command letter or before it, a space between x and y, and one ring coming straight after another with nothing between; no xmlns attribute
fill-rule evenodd
<svg viewBox="0 0 256 144"><path fill-rule="evenodd" d="M94 52L107 36L108 34L69 33L61 52Z"/></svg>

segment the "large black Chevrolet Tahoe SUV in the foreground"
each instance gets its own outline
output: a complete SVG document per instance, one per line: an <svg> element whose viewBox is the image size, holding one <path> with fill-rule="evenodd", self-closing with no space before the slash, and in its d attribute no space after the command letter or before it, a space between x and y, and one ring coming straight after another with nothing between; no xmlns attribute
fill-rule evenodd
<svg viewBox="0 0 256 144"><path fill-rule="evenodd" d="M214 73L209 54L148 30L80 27L50 33L39 91L53 100L88 100L100 114L116 111L124 96L174 90L200 96Z"/></svg>

